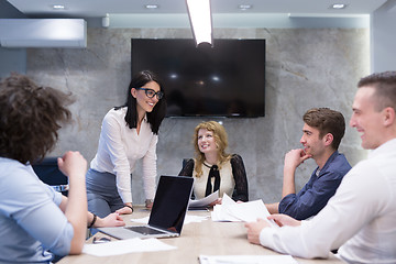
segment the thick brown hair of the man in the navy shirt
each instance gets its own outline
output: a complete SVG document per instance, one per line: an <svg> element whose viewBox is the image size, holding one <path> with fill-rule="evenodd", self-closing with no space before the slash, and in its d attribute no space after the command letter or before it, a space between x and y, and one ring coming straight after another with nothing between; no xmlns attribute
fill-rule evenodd
<svg viewBox="0 0 396 264"><path fill-rule="evenodd" d="M345 119L342 113L329 108L312 108L304 114L302 120L309 127L319 130L320 139L327 133L332 134L333 141L331 146L338 150L345 133Z"/></svg>

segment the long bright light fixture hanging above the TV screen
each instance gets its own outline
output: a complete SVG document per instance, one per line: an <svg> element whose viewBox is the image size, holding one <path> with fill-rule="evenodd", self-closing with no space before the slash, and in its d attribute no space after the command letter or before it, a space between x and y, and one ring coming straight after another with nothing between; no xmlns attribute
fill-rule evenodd
<svg viewBox="0 0 396 264"><path fill-rule="evenodd" d="M210 0L186 0L193 34L197 46L200 43L212 44L212 22Z"/></svg>

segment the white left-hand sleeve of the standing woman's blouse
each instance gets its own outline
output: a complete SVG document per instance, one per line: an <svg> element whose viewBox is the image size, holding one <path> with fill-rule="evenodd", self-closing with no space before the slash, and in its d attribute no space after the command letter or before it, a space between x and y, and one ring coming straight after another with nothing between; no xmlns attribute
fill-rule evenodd
<svg viewBox="0 0 396 264"><path fill-rule="evenodd" d="M116 174L118 193L123 202L132 202L130 163L121 138L121 130L124 124L120 122L113 116L106 114L101 128L101 138L114 166L113 173Z"/></svg>

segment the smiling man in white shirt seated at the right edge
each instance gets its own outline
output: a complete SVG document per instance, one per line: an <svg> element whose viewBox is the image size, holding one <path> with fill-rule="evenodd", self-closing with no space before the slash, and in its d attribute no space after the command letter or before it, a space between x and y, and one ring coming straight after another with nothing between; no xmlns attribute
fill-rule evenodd
<svg viewBox="0 0 396 264"><path fill-rule="evenodd" d="M358 84L350 125L362 146L373 150L343 178L336 195L311 220L273 215L246 223L248 239L299 257L328 257L331 250L349 263L396 263L396 72L373 74Z"/></svg>

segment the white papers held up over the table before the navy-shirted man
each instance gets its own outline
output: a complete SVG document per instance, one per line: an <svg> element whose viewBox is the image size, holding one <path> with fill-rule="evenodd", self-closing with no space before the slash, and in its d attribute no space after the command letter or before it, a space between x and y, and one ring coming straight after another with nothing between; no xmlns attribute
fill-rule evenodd
<svg viewBox="0 0 396 264"><path fill-rule="evenodd" d="M268 221L272 227L278 228L273 220L267 219L268 216L270 212L263 200L235 202L224 194L221 205L213 207L211 219L212 221L253 222L256 221L257 218L262 218Z"/></svg>

